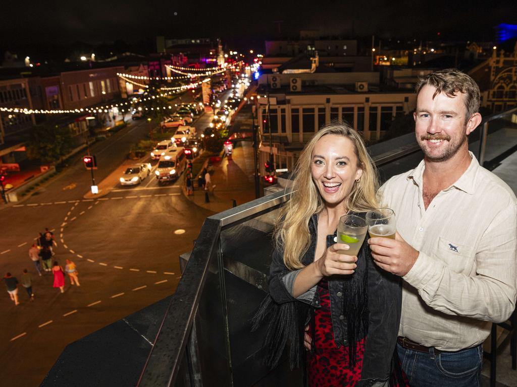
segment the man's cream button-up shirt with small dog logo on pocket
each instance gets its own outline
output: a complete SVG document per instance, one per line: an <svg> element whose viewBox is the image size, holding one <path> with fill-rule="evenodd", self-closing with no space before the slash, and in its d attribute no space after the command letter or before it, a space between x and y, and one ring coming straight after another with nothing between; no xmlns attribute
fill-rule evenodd
<svg viewBox="0 0 517 387"><path fill-rule="evenodd" d="M425 209L422 162L381 188L397 231L419 251L403 277L399 335L456 351L482 343L491 322L515 308L517 199L508 185L472 162Z"/></svg>

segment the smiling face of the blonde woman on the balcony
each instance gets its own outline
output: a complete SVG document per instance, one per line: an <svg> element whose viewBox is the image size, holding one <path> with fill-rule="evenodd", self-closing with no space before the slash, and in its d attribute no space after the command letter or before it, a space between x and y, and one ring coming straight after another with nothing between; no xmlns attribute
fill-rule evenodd
<svg viewBox="0 0 517 387"><path fill-rule="evenodd" d="M327 206L344 203L362 174L352 141L336 134L323 136L312 150L311 173Z"/></svg>

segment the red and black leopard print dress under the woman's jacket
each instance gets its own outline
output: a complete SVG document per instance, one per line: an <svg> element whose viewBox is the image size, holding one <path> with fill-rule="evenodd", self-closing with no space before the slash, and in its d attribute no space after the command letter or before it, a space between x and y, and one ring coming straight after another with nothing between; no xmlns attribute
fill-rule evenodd
<svg viewBox="0 0 517 387"><path fill-rule="evenodd" d="M312 337L314 352L308 352L307 378L310 387L355 386L361 379L364 357L364 339L357 342L357 360L353 369L348 367L348 346L337 347L334 342L332 318L330 315L330 294L328 282L318 284L320 309L314 312L315 337ZM311 332L312 329L309 330Z"/></svg>

